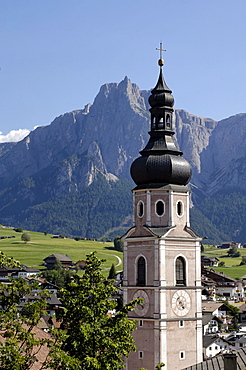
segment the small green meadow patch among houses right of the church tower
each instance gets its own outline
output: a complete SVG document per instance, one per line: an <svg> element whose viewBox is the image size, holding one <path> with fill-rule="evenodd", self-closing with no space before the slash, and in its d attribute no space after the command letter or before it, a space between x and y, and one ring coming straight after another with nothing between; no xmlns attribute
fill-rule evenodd
<svg viewBox="0 0 246 370"><path fill-rule="evenodd" d="M217 249L211 246L205 246L204 255L207 257L217 257L220 261L225 262L224 267L213 267L215 271L223 272L227 276L240 279L246 274L246 265L239 266L242 256L246 256L246 248L239 249L240 257L227 257L228 249Z"/></svg>

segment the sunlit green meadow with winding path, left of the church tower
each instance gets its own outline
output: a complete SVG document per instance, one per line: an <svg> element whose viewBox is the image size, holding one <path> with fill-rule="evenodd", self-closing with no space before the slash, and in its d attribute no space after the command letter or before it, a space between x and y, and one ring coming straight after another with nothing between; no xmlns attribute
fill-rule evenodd
<svg viewBox="0 0 246 370"><path fill-rule="evenodd" d="M52 235L27 231L31 240L28 243L21 241L22 233L12 229L0 228L1 236L15 236L15 238L0 239L0 251L13 257L29 267L42 268L43 259L50 254L65 254L73 262L85 259L90 252L96 251L98 258L104 258L104 269L109 269L114 263L116 271L123 269L123 253L113 249L113 243L94 242L74 239L54 239Z"/></svg>

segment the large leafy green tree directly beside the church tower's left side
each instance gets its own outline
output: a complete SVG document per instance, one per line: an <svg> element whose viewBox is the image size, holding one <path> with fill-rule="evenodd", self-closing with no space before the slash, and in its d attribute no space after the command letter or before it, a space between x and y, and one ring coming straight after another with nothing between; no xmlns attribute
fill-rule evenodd
<svg viewBox="0 0 246 370"><path fill-rule="evenodd" d="M79 360L78 370L122 369L123 357L135 350L131 333L136 324L127 313L140 300L116 312L117 289L102 275L102 262L95 253L87 256L83 276L76 275L69 288L61 291L64 309L59 319L66 333L62 349Z"/></svg>

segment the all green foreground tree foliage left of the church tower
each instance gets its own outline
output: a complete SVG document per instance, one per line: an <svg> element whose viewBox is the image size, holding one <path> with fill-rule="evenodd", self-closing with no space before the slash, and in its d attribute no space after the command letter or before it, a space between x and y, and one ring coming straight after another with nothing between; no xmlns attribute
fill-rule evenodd
<svg viewBox="0 0 246 370"><path fill-rule="evenodd" d="M58 312L58 318L62 329L53 330L50 339L39 339L33 332L45 313L48 293L39 292L40 299L19 311L21 298L38 289L37 284L19 278L0 285L0 333L4 338L0 340L0 369L31 369L43 346L48 350L40 369L122 369L123 358L135 350L131 333L136 325L127 314L142 300L116 311L117 289L112 280L105 280L102 275L102 262L95 253L87 256L83 276L76 274L67 288L61 290L64 308ZM19 265L2 252L0 264Z"/></svg>

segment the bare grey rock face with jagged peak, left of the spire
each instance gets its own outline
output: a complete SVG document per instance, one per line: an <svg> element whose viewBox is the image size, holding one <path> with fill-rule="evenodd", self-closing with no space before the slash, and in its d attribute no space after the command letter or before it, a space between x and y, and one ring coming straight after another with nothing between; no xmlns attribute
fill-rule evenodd
<svg viewBox="0 0 246 370"><path fill-rule="evenodd" d="M90 185L97 174L108 181L129 178L129 166L147 139L146 99L126 77L101 87L93 105L57 117L21 142L0 145L0 187L43 176L52 196Z"/></svg>

